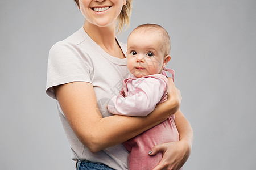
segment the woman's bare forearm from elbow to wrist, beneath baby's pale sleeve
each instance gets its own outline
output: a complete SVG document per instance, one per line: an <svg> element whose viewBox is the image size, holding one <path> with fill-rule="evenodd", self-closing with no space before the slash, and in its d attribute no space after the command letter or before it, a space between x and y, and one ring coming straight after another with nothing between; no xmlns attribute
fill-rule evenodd
<svg viewBox="0 0 256 170"><path fill-rule="evenodd" d="M155 110L146 117L114 115L102 118L97 124L99 131L94 133L99 134L94 138L96 139L94 143L94 147L97 148L96 151L125 142L141 134L143 131L160 124L171 114L175 113L175 110L170 108L170 103L167 102L157 105ZM108 131L108 133L102 134L102 129Z"/></svg>

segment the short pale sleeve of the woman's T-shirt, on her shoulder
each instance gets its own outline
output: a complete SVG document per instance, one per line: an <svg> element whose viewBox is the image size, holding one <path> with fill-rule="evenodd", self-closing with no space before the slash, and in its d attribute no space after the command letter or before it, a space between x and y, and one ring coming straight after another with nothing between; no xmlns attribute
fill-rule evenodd
<svg viewBox="0 0 256 170"><path fill-rule="evenodd" d="M49 51L46 93L56 99L53 86L91 82L90 70L76 44L57 42Z"/></svg>

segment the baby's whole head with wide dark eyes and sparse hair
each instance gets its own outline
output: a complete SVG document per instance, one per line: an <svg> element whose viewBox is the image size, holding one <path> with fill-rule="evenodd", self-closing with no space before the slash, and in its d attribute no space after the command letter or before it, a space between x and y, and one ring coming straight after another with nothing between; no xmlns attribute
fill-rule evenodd
<svg viewBox="0 0 256 170"><path fill-rule="evenodd" d="M128 69L137 78L159 74L171 59L170 50L170 37L163 27L139 25L128 37Z"/></svg>

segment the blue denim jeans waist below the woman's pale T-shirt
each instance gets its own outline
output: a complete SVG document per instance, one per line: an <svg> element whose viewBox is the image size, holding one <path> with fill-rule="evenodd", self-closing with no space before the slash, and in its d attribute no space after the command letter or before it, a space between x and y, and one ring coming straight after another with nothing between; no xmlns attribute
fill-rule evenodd
<svg viewBox="0 0 256 170"><path fill-rule="evenodd" d="M76 170L113 170L105 164L90 162L88 160L77 160L76 162Z"/></svg>

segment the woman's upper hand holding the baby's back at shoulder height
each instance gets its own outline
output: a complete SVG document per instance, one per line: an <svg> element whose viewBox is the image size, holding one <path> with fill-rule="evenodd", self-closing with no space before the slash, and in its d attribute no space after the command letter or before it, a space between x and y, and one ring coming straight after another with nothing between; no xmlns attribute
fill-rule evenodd
<svg viewBox="0 0 256 170"><path fill-rule="evenodd" d="M172 78L168 77L167 79L169 81L169 87L168 87L168 93L167 93L168 100L172 100L179 108L182 100L182 97L180 95L180 90L175 87L175 84Z"/></svg>

